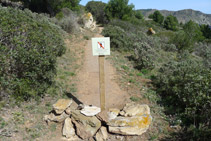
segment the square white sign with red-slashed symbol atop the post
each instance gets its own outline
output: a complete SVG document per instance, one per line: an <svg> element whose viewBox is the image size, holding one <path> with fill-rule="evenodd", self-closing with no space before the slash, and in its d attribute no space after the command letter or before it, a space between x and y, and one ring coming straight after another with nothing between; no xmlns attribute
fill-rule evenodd
<svg viewBox="0 0 211 141"><path fill-rule="evenodd" d="M92 53L94 56L110 55L110 37L92 38Z"/></svg>

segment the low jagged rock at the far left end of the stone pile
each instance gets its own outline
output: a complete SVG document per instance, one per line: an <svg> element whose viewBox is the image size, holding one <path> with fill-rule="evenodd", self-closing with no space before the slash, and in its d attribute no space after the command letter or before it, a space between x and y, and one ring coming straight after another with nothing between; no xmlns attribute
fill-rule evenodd
<svg viewBox="0 0 211 141"><path fill-rule="evenodd" d="M44 116L44 120L46 122L54 121L54 122L63 122L69 115L63 112L61 115L55 115L54 113L50 113L49 115Z"/></svg>

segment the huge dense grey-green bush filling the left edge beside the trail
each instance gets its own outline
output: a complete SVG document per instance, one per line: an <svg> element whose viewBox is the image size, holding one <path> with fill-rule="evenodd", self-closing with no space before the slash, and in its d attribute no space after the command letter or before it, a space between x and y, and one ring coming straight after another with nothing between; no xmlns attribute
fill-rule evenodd
<svg viewBox="0 0 211 141"><path fill-rule="evenodd" d="M61 29L50 19L0 6L0 88L26 100L43 95L65 52Z"/></svg>

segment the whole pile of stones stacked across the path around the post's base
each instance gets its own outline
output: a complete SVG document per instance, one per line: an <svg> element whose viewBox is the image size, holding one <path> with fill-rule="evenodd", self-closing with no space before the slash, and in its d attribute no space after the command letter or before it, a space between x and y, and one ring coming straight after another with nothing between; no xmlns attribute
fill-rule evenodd
<svg viewBox="0 0 211 141"><path fill-rule="evenodd" d="M152 121L147 105L126 104L122 110L100 111L95 106L72 106L72 100L60 99L44 120L63 123L62 134L68 140L105 141L109 133L118 135L142 135Z"/></svg>

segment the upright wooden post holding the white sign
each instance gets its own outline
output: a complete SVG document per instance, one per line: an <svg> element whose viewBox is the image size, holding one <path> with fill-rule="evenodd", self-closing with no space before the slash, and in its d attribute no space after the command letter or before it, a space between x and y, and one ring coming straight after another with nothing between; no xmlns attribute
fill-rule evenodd
<svg viewBox="0 0 211 141"><path fill-rule="evenodd" d="M105 110L105 72L104 72L104 55L99 56L99 71L100 71L100 108Z"/></svg>

